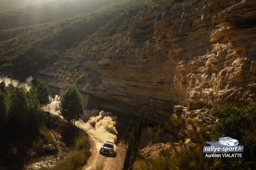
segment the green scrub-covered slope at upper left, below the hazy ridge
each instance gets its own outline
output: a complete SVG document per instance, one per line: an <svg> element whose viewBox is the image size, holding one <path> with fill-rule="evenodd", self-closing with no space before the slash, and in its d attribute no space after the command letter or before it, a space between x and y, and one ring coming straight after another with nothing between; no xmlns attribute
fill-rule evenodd
<svg viewBox="0 0 256 170"><path fill-rule="evenodd" d="M129 11L131 15L140 11L144 5L143 3L138 5L136 2L136 0L116 0L92 14L0 31L1 73L24 79L27 75L43 70L47 64L54 63L59 54L71 48L74 43L96 32L111 19L118 18L124 11ZM48 49L55 51L48 52ZM17 73L19 76L16 75Z"/></svg>

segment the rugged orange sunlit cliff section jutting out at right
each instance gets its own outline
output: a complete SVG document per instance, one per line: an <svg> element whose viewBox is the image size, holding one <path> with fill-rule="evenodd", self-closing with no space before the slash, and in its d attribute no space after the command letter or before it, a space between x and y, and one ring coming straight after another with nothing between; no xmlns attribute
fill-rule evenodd
<svg viewBox="0 0 256 170"><path fill-rule="evenodd" d="M224 2L210 0L181 17L176 8L156 24L175 64L174 87L190 109L255 99L256 3Z"/></svg>

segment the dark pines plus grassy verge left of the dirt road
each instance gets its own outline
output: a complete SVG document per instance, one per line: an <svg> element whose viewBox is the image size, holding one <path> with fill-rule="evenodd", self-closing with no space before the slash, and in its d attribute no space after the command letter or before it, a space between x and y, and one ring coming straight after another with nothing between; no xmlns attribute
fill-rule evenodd
<svg viewBox="0 0 256 170"><path fill-rule="evenodd" d="M49 90L41 86L45 85L40 83L39 88L32 87L28 91L25 87L0 83L0 166L21 169L30 159L56 154L59 145L51 135L52 130L60 133L62 142L71 149L67 158L53 169L71 170L83 166L91 154L88 135L60 116L41 110L40 104L47 105L50 95L47 95ZM70 102L73 98L67 100ZM49 144L54 148L49 148Z"/></svg>

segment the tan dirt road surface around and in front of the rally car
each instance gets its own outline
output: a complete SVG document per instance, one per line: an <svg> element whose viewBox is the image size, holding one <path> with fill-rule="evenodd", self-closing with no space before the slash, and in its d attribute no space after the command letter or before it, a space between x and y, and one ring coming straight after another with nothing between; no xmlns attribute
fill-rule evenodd
<svg viewBox="0 0 256 170"><path fill-rule="evenodd" d="M108 155L100 153L100 148L96 148L95 139L92 136L90 138L92 156L83 167L83 170L121 170L123 168L126 153L124 144L116 144L116 155Z"/></svg>

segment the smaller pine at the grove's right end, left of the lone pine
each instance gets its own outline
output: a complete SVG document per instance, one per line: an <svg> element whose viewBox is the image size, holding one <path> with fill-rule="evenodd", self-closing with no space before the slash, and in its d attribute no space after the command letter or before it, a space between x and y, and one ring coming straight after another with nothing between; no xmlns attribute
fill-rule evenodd
<svg viewBox="0 0 256 170"><path fill-rule="evenodd" d="M36 87L36 93L37 93L37 99L40 102L41 107L45 107L49 105L52 100L51 100L51 93L49 91L49 88L46 84L43 82L40 82L38 86Z"/></svg>

